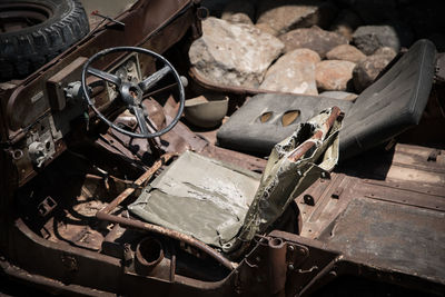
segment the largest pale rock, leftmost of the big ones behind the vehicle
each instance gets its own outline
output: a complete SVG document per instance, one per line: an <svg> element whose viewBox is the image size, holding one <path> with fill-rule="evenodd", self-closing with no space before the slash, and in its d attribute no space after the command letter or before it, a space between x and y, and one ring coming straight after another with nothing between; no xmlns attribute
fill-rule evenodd
<svg viewBox="0 0 445 297"><path fill-rule="evenodd" d="M234 24L217 18L202 21L202 37L190 47L197 72L218 85L258 88L284 44L254 26Z"/></svg>

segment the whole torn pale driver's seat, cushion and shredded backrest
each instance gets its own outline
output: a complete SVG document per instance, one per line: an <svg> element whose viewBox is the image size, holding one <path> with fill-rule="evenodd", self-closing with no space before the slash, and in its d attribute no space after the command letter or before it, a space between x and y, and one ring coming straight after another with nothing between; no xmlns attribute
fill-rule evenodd
<svg viewBox="0 0 445 297"><path fill-rule="evenodd" d="M332 109L301 123L278 143L261 177L191 151L184 152L128 209L151 224L190 235L229 253L264 232L289 202L338 160L339 119L323 139ZM288 159L312 143L297 160Z"/></svg>

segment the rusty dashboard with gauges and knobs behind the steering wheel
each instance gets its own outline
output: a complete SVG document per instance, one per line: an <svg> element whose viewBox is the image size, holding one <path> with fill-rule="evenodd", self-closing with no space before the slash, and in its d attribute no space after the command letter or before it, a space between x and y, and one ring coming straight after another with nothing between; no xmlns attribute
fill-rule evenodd
<svg viewBox="0 0 445 297"><path fill-rule="evenodd" d="M19 184L27 182L36 171L46 167L66 149L63 137L71 131L75 119L89 120L87 105L82 98L80 76L87 61L78 57L67 67L46 80L42 89L29 96L28 109L11 112L10 123L20 127L24 137L13 143L10 151L18 169ZM132 52L103 69L122 81L139 82L142 79L139 55ZM116 87L95 77L88 77L90 96L95 106L103 108L119 97ZM97 88L99 86L99 88ZM96 92L96 89L99 89ZM92 93L92 95L91 95ZM47 109L41 116L39 111ZM20 115L23 116L20 116Z"/></svg>

